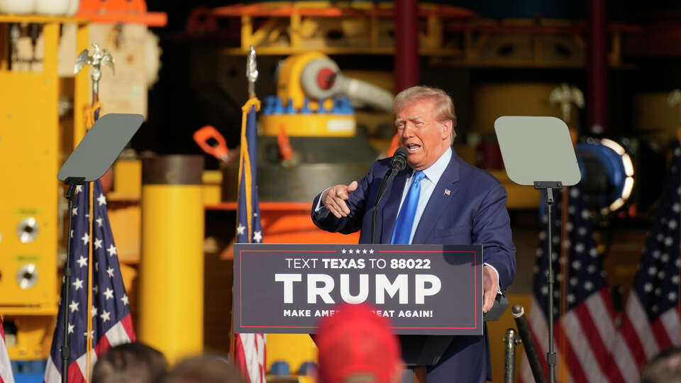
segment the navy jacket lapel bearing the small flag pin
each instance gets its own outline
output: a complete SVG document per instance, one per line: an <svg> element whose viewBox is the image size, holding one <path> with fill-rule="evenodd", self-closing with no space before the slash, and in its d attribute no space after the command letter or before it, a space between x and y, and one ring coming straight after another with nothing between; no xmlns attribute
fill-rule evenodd
<svg viewBox="0 0 681 383"><path fill-rule="evenodd" d="M459 165L455 159L456 154L452 152L452 159L433 189L433 194L426 204L426 209L423 210L411 243L426 243L436 222L447 210L447 205L456 199L456 192L459 189ZM447 190L449 193L446 192Z"/></svg>

